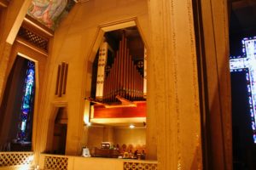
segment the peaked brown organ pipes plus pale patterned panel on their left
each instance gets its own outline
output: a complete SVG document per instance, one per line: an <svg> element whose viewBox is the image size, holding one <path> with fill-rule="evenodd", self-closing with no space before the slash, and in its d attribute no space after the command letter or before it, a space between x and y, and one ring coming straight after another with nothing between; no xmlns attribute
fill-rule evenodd
<svg viewBox="0 0 256 170"><path fill-rule="evenodd" d="M98 68L97 73L96 99L102 100L103 103L118 102L117 96L131 101L144 100L143 93L145 94L145 89L143 84L145 79L132 60L125 33L122 34L119 41L119 50L116 52L110 70L102 72L108 60L106 46L106 44L102 45L105 49L100 48L98 67L101 68ZM106 53L103 53L103 51Z"/></svg>

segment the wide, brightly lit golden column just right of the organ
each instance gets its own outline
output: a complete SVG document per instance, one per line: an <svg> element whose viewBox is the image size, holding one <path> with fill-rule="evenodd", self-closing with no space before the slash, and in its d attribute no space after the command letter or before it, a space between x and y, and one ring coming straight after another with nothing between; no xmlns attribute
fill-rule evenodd
<svg viewBox="0 0 256 170"><path fill-rule="evenodd" d="M148 103L154 104L148 106L148 119L155 118L159 169L201 169L201 118L191 1L149 0L148 14Z"/></svg>

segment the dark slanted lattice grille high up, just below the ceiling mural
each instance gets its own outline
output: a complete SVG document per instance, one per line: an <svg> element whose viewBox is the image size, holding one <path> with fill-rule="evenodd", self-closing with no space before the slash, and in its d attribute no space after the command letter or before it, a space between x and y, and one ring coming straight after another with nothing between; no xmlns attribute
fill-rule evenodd
<svg viewBox="0 0 256 170"><path fill-rule="evenodd" d="M49 44L48 39L44 37L40 37L37 34L33 33L32 31L26 30L23 27L20 27L18 36L25 39L27 42L31 42L34 46L48 52L48 44Z"/></svg>

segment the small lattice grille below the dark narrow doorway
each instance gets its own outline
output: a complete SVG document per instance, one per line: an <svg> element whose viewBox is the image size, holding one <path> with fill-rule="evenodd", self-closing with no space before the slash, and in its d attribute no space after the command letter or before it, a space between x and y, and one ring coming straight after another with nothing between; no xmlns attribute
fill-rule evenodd
<svg viewBox="0 0 256 170"><path fill-rule="evenodd" d="M67 170L67 157L45 156L45 170Z"/></svg>

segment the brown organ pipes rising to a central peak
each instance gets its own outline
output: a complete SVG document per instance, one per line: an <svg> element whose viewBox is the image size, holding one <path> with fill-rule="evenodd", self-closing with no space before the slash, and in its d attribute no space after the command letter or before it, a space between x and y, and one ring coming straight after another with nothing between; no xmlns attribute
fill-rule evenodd
<svg viewBox="0 0 256 170"><path fill-rule="evenodd" d="M143 76L132 61L125 34L104 80L103 101L116 102L117 95L132 101L143 99Z"/></svg>

